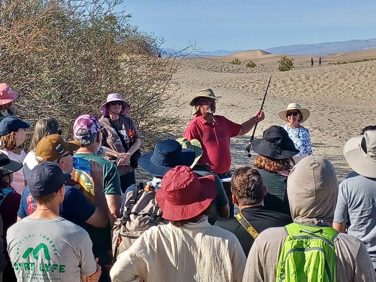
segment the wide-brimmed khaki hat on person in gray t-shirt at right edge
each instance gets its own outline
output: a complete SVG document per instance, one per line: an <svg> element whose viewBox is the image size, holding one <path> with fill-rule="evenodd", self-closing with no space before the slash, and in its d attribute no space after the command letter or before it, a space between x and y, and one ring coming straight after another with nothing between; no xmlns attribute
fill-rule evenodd
<svg viewBox="0 0 376 282"><path fill-rule="evenodd" d="M376 131L351 138L343 147L343 155L356 173L376 178Z"/></svg>

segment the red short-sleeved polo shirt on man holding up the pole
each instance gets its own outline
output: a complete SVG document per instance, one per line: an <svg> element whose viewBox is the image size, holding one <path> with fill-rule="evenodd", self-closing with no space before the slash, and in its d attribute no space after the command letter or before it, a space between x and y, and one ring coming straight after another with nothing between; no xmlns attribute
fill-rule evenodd
<svg viewBox="0 0 376 282"><path fill-rule="evenodd" d="M217 123L196 116L185 129L184 137L200 141L203 153L198 162L208 164L214 173L220 174L230 170L230 137L239 135L240 124L221 115L215 115L214 120Z"/></svg>

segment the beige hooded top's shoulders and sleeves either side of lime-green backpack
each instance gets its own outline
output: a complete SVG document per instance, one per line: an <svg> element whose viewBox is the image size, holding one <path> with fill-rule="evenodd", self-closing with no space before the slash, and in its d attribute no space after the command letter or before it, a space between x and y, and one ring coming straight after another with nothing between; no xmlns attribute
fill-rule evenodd
<svg viewBox="0 0 376 282"><path fill-rule="evenodd" d="M249 252L243 282L276 280L274 264L286 239L284 227L264 230ZM334 240L338 282L375 282L376 275L364 244L355 237L340 233Z"/></svg>

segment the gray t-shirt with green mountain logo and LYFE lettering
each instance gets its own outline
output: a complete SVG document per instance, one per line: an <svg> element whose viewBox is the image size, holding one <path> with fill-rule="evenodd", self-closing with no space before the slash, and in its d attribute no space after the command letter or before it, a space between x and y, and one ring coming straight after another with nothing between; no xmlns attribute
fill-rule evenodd
<svg viewBox="0 0 376 282"><path fill-rule="evenodd" d="M8 229L6 238L18 282L81 282L81 274L97 270L88 233L62 217L26 217Z"/></svg>

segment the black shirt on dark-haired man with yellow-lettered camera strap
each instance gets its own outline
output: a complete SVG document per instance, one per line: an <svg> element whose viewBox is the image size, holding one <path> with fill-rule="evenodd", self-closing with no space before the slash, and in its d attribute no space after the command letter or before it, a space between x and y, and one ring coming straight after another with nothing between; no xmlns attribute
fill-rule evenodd
<svg viewBox="0 0 376 282"><path fill-rule="evenodd" d="M280 214L279 212L268 211L264 206L243 209L241 214L258 233L270 227L282 227L293 222L290 216ZM220 218L214 225L234 233L243 248L244 254L248 256L249 250L255 240L235 217Z"/></svg>

